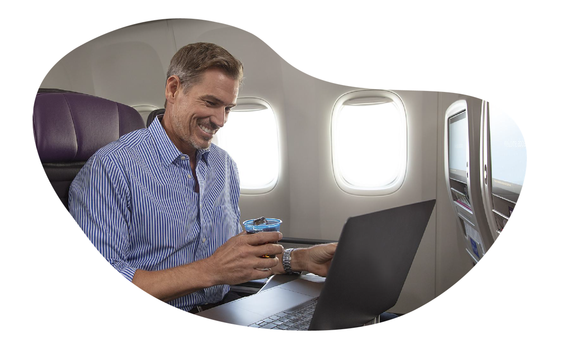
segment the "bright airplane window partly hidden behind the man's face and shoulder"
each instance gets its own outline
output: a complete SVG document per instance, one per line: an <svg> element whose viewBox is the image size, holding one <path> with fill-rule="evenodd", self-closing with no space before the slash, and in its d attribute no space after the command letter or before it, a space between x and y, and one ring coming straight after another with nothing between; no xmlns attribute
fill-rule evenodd
<svg viewBox="0 0 564 346"><path fill-rule="evenodd" d="M218 146L237 164L241 193L266 193L279 175L278 130L270 105L254 97L240 97L218 132Z"/></svg>

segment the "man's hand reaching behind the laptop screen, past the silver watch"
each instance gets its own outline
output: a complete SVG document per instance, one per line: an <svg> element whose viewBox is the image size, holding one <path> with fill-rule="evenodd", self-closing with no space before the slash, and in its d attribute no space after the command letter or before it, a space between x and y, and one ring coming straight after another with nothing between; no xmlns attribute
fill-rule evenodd
<svg viewBox="0 0 564 346"><path fill-rule="evenodd" d="M319 276L327 276L337 243L320 244L309 249L296 249L292 251L293 270L307 270Z"/></svg>

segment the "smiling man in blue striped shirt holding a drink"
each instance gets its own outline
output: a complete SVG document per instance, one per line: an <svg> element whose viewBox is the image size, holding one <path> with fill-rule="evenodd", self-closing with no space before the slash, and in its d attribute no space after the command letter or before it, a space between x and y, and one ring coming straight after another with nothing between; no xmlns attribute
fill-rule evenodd
<svg viewBox="0 0 564 346"><path fill-rule="evenodd" d="M162 118L98 150L69 190L70 214L100 254L134 285L185 311L221 301L228 285L272 274L325 276L336 247L295 250L284 267L284 249L272 243L280 233L241 229L237 167L211 139L242 79L243 65L223 48L181 48Z"/></svg>

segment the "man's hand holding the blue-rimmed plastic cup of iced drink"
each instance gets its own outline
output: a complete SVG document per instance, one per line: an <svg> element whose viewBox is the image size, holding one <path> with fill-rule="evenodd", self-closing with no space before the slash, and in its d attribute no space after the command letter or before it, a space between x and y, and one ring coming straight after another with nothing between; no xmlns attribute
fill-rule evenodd
<svg viewBox="0 0 564 346"><path fill-rule="evenodd" d="M281 238L282 234L279 232L243 232L229 239L213 255L202 260L210 275L212 286L237 285L271 276L271 268L276 267L279 259L261 256L281 254L284 247L271 244Z"/></svg>

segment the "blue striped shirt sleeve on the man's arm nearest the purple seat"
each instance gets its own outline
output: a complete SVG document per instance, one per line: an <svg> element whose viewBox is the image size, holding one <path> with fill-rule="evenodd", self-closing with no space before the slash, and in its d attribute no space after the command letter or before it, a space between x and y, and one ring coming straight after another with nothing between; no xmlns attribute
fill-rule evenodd
<svg viewBox="0 0 564 346"><path fill-rule="evenodd" d="M124 173L109 157L92 156L69 189L69 212L105 260L127 280L136 268L130 250L130 193Z"/></svg>

